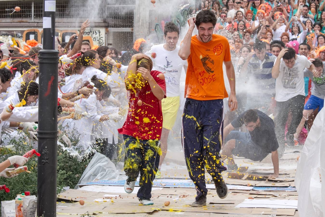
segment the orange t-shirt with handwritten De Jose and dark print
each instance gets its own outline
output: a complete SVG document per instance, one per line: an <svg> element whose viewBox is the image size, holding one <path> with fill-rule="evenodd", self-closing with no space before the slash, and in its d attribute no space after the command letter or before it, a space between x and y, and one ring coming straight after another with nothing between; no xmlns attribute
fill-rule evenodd
<svg viewBox="0 0 325 217"><path fill-rule="evenodd" d="M226 37L212 34L212 40L203 43L196 35L192 36L190 55L187 59L185 97L194 100L227 98L222 64L224 61L231 61L230 58Z"/></svg>

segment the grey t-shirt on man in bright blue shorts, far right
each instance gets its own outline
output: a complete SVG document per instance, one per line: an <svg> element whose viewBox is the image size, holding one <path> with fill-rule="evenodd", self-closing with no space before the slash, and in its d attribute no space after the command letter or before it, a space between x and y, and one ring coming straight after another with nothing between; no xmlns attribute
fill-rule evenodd
<svg viewBox="0 0 325 217"><path fill-rule="evenodd" d="M325 62L323 62L325 65ZM308 69L305 69L304 76L307 76L314 83L313 88L311 89L311 95L314 95L320 99L325 97L325 69L323 69L322 75L319 77L314 77L313 73Z"/></svg>

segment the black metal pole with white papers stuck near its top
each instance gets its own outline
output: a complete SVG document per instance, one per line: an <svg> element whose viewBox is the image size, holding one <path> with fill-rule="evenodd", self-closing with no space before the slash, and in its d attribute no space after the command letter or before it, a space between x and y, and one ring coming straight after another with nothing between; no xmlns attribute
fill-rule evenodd
<svg viewBox="0 0 325 217"><path fill-rule="evenodd" d="M37 216L56 216L58 141L58 48L56 1L44 0L43 50L39 51Z"/></svg>

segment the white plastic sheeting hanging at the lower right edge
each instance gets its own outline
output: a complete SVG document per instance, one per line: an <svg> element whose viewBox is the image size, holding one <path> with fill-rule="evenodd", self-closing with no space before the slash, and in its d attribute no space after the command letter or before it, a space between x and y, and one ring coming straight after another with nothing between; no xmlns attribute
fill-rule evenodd
<svg viewBox="0 0 325 217"><path fill-rule="evenodd" d="M295 185L301 217L325 217L325 110L318 113L297 165Z"/></svg>

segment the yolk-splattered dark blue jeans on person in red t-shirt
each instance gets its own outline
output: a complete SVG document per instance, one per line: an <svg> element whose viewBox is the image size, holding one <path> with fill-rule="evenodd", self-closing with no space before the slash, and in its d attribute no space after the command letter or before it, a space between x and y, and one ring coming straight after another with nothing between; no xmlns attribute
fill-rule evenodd
<svg viewBox="0 0 325 217"><path fill-rule="evenodd" d="M123 135L125 145L125 175L136 181L140 173L140 189L137 197L151 198L152 182L159 166L161 149L158 140L137 140L133 136Z"/></svg>

